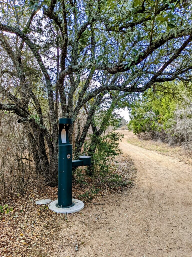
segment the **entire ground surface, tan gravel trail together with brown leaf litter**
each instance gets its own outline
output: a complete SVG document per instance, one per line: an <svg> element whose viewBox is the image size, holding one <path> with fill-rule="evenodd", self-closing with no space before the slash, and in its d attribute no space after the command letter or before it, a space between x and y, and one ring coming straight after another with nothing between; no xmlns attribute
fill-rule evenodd
<svg viewBox="0 0 192 257"><path fill-rule="evenodd" d="M13 211L0 215L0 256L191 257L189 156L182 148L123 133L116 172L130 181L128 186L112 189L110 180L110 187L99 181L95 187L77 177L73 197L83 200L85 208L68 215L35 205L42 198L55 200L57 188L29 189L25 196L12 198L7 204Z"/></svg>

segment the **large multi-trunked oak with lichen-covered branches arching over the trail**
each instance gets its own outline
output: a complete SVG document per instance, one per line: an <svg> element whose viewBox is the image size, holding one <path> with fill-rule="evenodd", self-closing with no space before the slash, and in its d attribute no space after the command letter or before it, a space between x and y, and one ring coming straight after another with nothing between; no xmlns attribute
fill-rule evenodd
<svg viewBox="0 0 192 257"><path fill-rule="evenodd" d="M110 102L165 81L191 79L188 0L10 0L0 2L0 109L18 115L37 172L57 183L58 117L87 120ZM70 127L70 136L73 126Z"/></svg>

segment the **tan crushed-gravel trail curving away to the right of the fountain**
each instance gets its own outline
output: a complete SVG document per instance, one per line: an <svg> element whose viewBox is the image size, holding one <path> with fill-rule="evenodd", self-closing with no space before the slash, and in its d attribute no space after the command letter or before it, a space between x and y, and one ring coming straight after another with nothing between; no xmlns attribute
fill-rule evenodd
<svg viewBox="0 0 192 257"><path fill-rule="evenodd" d="M120 147L134 161L135 186L69 217L72 225L62 230L58 256L191 257L192 168L127 143L127 135ZM82 242L78 252L67 251L66 236Z"/></svg>

